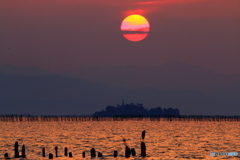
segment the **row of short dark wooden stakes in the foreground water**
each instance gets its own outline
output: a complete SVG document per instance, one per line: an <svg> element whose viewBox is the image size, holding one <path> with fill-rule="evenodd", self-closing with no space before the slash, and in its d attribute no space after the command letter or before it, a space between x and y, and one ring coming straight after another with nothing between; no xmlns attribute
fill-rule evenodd
<svg viewBox="0 0 240 160"><path fill-rule="evenodd" d="M15 145L14 145L14 158L26 158L26 151L25 151L25 145L22 145L22 154L20 155L19 154L19 145L18 145L18 142L15 142ZM55 148L55 157L58 157L58 147L56 146ZM103 154L101 152L97 152L98 154L96 155L96 150L95 148L92 148L90 150L90 156L91 158L94 158L94 157L103 157ZM72 158L73 157L73 154L72 152L69 152L68 153L68 148L65 147L64 148L64 156L68 156L69 158ZM113 152L113 157L117 157L118 156L118 151L114 151ZM126 144L125 144L125 157L126 158L129 158L130 156L136 156L136 151L134 148L129 148ZM46 157L46 154L45 154L45 148L42 148L42 157ZM85 158L86 157L86 151L82 152L82 157ZM141 157L146 157L146 145L144 142L141 142ZM8 155L8 153L5 153L4 154L4 158L5 159L11 159ZM48 155L48 158L49 159L53 159L53 154L52 153L49 153Z"/></svg>

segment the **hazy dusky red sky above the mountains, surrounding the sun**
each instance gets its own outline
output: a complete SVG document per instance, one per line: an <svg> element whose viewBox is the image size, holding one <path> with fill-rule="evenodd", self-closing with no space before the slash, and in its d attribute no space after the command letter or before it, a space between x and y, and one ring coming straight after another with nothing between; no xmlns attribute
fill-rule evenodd
<svg viewBox="0 0 240 160"><path fill-rule="evenodd" d="M240 74L240 0L0 0L0 65L61 71L178 60ZM126 40L140 14L150 32Z"/></svg>

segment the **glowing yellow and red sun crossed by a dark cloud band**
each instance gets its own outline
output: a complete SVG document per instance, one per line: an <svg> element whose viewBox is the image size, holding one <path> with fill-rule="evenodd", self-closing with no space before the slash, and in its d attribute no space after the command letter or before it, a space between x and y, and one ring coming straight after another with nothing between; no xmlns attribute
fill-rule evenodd
<svg viewBox="0 0 240 160"><path fill-rule="evenodd" d="M148 36L150 25L145 17L133 14L122 21L121 31L127 40L138 42Z"/></svg>

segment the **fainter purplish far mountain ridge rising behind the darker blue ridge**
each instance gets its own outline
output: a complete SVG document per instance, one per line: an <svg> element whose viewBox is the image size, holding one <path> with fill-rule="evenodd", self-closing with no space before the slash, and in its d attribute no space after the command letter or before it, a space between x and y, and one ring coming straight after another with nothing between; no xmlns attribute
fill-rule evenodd
<svg viewBox="0 0 240 160"><path fill-rule="evenodd" d="M240 82L240 75L220 74L178 61L170 61L156 67L89 67L61 73L65 76L129 89L151 87L160 90L216 91Z"/></svg>

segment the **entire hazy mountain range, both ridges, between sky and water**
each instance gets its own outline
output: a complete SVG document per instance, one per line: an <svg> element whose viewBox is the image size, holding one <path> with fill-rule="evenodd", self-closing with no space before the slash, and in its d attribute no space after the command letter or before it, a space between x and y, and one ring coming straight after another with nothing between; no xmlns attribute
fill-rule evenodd
<svg viewBox="0 0 240 160"><path fill-rule="evenodd" d="M0 114L90 115L121 99L143 103L147 109L179 108L183 115L240 114L239 75L178 62L149 68L92 67L82 69L79 75L85 78L71 74L1 66Z"/></svg>

